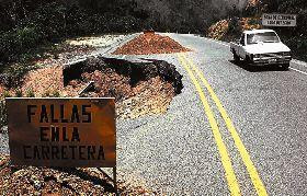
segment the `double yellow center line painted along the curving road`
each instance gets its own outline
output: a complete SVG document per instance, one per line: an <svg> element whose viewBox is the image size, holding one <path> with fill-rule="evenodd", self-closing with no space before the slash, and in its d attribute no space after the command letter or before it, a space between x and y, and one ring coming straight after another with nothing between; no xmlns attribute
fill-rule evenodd
<svg viewBox="0 0 307 196"><path fill-rule="evenodd" d="M240 186L238 184L235 171L232 169L232 163L230 160L230 157L228 154L227 148L225 142L223 141L221 138L221 134L219 131L219 127L218 124L214 117L214 112L211 108L211 105L207 101L207 97L202 89L201 83L206 88L207 92L209 93L212 100L214 101L214 103L217 106L217 109L219 112L219 114L221 115L227 129L229 130L235 145L241 155L241 159L247 168L247 171L250 175L250 178L252 181L252 184L257 191L258 195L261 196L266 196L266 189L258 174L258 171L254 166L254 164L252 163L250 155L243 145L243 142L241 141L229 115L227 114L226 109L224 108L223 104L220 103L219 99L217 97L216 93L214 92L214 90L212 89L211 84L208 83L208 81L205 79L205 77L203 76L203 73L198 70L198 68L193 64L193 61L191 59L189 59L184 54L178 54L178 58L181 62L181 65L184 67L184 69L187 71L187 74L190 76L193 84L195 85L196 91L200 94L201 101L203 103L204 109L205 109L205 114L208 118L213 135L214 135L214 139L215 142L217 145L218 151L219 151L219 155L220 155L220 160L221 160L221 164L224 166L225 173L226 173L226 180L228 183L228 187L230 191L231 195L241 195L240 192ZM197 78L195 77L195 74L201 79L201 82L198 82Z"/></svg>

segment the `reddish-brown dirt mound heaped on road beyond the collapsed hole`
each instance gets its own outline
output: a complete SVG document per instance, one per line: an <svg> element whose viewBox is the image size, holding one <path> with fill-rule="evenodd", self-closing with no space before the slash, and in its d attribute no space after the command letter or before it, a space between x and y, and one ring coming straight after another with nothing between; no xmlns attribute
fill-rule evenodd
<svg viewBox="0 0 307 196"><path fill-rule="evenodd" d="M117 48L113 55L150 55L191 51L168 36L155 33L141 34L124 46Z"/></svg>

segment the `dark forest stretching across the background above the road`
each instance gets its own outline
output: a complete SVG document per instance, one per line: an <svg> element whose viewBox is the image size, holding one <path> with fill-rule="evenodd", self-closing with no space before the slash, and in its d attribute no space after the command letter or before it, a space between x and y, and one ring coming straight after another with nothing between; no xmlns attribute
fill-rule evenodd
<svg viewBox="0 0 307 196"><path fill-rule="evenodd" d="M306 37L306 0L0 0L0 62L62 38L144 30L206 34L229 18L297 13L292 37Z"/></svg>

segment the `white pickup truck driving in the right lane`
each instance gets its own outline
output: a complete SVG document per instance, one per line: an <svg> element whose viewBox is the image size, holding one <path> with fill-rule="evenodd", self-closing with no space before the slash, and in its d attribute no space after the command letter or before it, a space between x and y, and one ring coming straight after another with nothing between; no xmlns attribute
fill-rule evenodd
<svg viewBox="0 0 307 196"><path fill-rule="evenodd" d="M284 45L273 30L245 31L237 42L230 43L235 61L243 59L248 65L280 65L288 69L291 49Z"/></svg>

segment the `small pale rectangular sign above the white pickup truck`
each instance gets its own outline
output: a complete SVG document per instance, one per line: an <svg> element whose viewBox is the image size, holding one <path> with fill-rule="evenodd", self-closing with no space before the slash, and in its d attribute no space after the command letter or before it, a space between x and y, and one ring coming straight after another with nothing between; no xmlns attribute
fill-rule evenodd
<svg viewBox="0 0 307 196"><path fill-rule="evenodd" d="M296 14L263 13L263 26L296 26Z"/></svg>

